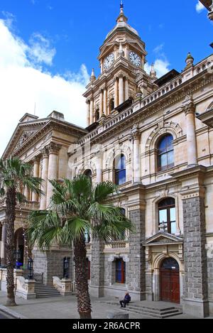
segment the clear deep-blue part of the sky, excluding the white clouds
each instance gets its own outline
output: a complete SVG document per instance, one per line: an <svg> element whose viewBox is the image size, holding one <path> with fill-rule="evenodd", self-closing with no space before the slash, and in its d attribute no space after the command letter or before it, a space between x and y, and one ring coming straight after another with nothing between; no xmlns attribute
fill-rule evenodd
<svg viewBox="0 0 213 333"><path fill-rule="evenodd" d="M155 60L158 45L170 67L178 70L187 52L197 61L211 53L212 26L207 11L198 14L196 4L197 0L124 1L129 23L146 42L148 62ZM18 36L26 43L35 32L51 40L57 50L51 72L76 72L82 63L90 72L92 67L99 70L99 46L115 24L119 0L1 0L0 18L2 11L15 16Z"/></svg>

